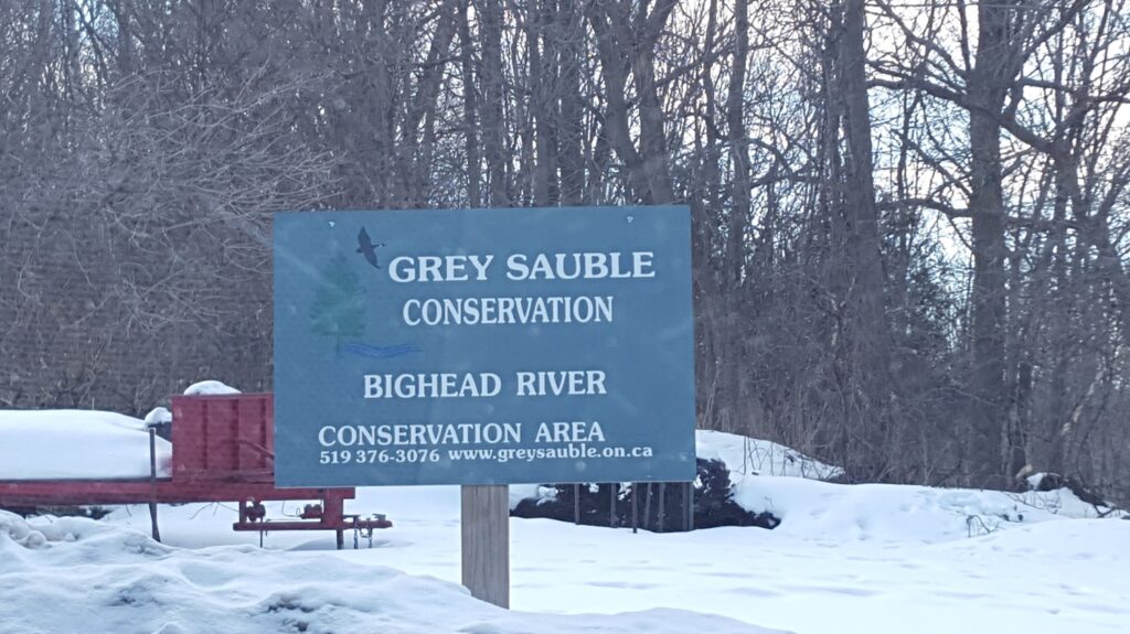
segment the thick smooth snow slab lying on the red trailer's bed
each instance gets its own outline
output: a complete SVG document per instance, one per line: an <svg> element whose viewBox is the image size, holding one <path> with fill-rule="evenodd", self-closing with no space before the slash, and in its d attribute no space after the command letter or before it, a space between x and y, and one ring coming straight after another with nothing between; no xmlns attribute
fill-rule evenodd
<svg viewBox="0 0 1130 634"><path fill-rule="evenodd" d="M0 411L0 479L149 477L145 423L111 412ZM158 475L167 476L172 446L157 439Z"/></svg>

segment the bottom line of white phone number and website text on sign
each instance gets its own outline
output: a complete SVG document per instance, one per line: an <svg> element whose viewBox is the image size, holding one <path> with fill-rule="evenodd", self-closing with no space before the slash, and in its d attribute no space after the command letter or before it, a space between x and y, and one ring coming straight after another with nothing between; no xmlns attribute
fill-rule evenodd
<svg viewBox="0 0 1130 634"><path fill-rule="evenodd" d="M338 449L322 451L323 465L389 465L412 463L490 461L533 463L538 460L651 458L651 447L592 447L589 443L570 443L564 447L505 447L501 449Z"/></svg>

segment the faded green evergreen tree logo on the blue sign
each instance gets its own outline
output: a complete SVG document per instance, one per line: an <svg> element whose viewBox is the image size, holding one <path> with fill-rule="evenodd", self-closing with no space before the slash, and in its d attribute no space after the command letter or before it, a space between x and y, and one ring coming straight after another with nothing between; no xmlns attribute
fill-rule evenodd
<svg viewBox="0 0 1130 634"><path fill-rule="evenodd" d="M338 254L322 268L310 320L314 333L333 337L338 356L344 338L364 336L365 289L345 255Z"/></svg>

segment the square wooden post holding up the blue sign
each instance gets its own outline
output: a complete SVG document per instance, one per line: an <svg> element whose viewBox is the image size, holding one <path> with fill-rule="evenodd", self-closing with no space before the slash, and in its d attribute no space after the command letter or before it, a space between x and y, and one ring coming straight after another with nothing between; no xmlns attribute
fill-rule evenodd
<svg viewBox="0 0 1130 634"><path fill-rule="evenodd" d="M510 487L461 487L463 585L476 599L510 607Z"/></svg>

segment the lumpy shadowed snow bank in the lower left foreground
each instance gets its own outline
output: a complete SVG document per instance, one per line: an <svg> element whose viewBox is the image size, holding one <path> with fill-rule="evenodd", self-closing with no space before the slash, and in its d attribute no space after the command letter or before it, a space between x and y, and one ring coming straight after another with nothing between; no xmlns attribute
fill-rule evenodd
<svg viewBox="0 0 1130 634"><path fill-rule="evenodd" d="M60 525L60 528L53 528ZM69 539L28 536L66 532ZM23 537L18 537L23 535ZM770 633L677 609L507 611L454 583L321 553L173 548L81 518L0 512L0 632Z"/></svg>

